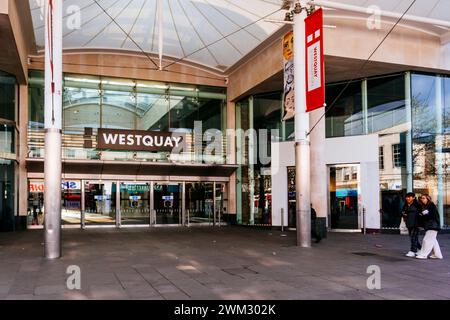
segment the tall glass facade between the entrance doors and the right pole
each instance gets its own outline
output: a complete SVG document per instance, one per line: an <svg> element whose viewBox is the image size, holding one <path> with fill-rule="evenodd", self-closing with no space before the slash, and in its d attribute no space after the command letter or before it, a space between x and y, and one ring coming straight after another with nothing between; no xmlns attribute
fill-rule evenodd
<svg viewBox="0 0 450 320"><path fill-rule="evenodd" d="M272 224L271 142L291 136L282 123L282 93L255 95L236 106L238 169L237 221L244 225ZM292 126L293 129L293 126Z"/></svg>

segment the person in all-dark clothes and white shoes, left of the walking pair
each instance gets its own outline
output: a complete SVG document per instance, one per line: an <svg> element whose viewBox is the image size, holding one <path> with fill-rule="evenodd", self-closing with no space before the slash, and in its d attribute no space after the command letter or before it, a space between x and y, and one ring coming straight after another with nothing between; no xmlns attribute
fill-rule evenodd
<svg viewBox="0 0 450 320"><path fill-rule="evenodd" d="M419 213L420 205L417 202L416 195L412 192L406 194L406 202L402 209L402 217L408 228L409 236L411 238L411 248L406 254L407 257L414 258L417 251L422 249L419 242Z"/></svg>

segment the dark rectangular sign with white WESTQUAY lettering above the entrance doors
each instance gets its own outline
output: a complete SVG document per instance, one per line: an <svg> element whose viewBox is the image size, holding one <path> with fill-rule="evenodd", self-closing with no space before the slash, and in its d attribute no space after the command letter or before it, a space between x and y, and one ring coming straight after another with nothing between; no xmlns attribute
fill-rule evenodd
<svg viewBox="0 0 450 320"><path fill-rule="evenodd" d="M174 152L183 148L185 141L183 133L99 129L97 149Z"/></svg>

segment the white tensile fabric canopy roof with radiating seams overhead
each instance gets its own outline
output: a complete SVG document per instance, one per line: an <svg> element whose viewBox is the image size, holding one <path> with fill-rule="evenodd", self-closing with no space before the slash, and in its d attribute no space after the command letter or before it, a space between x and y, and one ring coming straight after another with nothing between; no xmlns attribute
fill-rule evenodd
<svg viewBox="0 0 450 320"><path fill-rule="evenodd" d="M44 0L29 0L38 49L44 45ZM114 49L158 54L159 0L64 0L64 49ZM161 0L164 56L220 71L279 30L283 0ZM306 1L302 1L305 3ZM412 0L316 0L403 14ZM326 5L325 5L326 6ZM331 6L332 7L332 6ZM71 29L80 11L80 28ZM330 16L343 9L327 10ZM345 11L345 10L343 10ZM346 14L348 15L348 11ZM410 16L450 21L450 0L417 0ZM114 20L114 21L113 21ZM429 24L436 30L436 26ZM449 28L439 27L439 33ZM167 65L168 62L166 62Z"/></svg>

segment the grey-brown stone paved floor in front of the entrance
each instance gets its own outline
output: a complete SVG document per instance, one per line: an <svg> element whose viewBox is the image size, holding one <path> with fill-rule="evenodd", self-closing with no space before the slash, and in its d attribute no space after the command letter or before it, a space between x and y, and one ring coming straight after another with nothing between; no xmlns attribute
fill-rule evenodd
<svg viewBox="0 0 450 320"><path fill-rule="evenodd" d="M330 234L301 249L294 233L239 227L64 230L57 261L42 258L42 240L0 234L0 299L450 299L449 235L442 261L404 257L399 235ZM80 291L67 289L71 265ZM381 290L367 288L370 265Z"/></svg>

